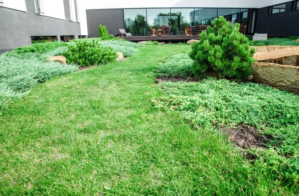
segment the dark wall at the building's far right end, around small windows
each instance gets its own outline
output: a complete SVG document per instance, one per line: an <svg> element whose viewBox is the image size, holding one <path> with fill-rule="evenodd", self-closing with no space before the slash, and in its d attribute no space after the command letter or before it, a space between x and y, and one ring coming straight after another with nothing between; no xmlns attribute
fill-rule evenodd
<svg viewBox="0 0 299 196"><path fill-rule="evenodd" d="M270 36L299 36L299 10L291 10L292 1L287 2L286 11L269 14L269 7L258 9L257 33Z"/></svg>

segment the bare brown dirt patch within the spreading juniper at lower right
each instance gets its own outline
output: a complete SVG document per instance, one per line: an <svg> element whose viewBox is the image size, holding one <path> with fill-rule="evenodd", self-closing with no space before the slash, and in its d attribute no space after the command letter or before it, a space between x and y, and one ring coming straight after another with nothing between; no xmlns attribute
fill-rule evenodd
<svg viewBox="0 0 299 196"><path fill-rule="evenodd" d="M256 133L251 126L238 125L235 128L223 129L222 133L228 136L228 140L234 142L235 147L249 150L250 148L263 148L269 141L275 140L274 137L267 135L262 136Z"/></svg>

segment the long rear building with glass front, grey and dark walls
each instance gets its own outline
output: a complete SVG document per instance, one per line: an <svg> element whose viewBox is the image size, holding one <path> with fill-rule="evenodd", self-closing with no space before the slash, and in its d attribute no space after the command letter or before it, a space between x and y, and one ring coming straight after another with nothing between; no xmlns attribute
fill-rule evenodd
<svg viewBox="0 0 299 196"><path fill-rule="evenodd" d="M171 25L171 35L185 35L186 25L209 25L219 16L246 25L248 35L299 36L299 0L179 0L167 7L148 5L120 7L104 2L104 8L87 9L89 37L97 37L99 24L113 35L123 28L133 36L147 36L150 26L161 25Z"/></svg>

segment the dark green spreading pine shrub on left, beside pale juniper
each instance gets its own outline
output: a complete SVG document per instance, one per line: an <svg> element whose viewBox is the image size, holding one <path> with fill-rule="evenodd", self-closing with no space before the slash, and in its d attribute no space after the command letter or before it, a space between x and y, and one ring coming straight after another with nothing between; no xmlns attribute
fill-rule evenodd
<svg viewBox="0 0 299 196"><path fill-rule="evenodd" d="M118 56L111 47L100 46L96 39L78 39L68 46L63 55L68 63L76 63L82 67L107 64Z"/></svg>

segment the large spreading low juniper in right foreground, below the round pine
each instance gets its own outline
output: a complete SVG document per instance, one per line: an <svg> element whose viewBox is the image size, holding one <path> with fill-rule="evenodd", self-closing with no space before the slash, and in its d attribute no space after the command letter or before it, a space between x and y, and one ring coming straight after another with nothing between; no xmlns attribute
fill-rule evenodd
<svg viewBox="0 0 299 196"><path fill-rule="evenodd" d="M284 186L299 187L299 96L255 83L204 79L200 83L162 82L155 108L176 110L197 129L250 125L277 140L254 150L255 164ZM217 127L215 127L215 125Z"/></svg>

